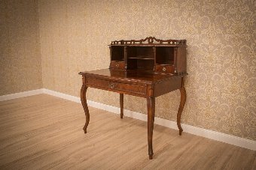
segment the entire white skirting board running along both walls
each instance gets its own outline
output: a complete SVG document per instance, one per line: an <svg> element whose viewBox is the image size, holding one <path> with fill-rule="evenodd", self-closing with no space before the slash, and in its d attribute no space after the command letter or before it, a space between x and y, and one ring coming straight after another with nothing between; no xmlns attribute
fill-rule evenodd
<svg viewBox="0 0 256 170"><path fill-rule="evenodd" d="M38 90L34 90L34 91L25 91L25 92L21 92L21 93L17 93L17 94L8 94L8 95L4 95L4 96L0 96L0 101L4 101L4 100L11 100L11 99L16 99L16 98L20 98L20 97L27 97L27 96L32 96L35 94L49 94L55 97L60 97L62 99L66 99L66 100L70 100L76 103L81 103L81 100L79 97L74 97L71 96L69 94L62 94L56 91L51 91L45 88L41 88ZM92 106L98 109L103 109L105 111L108 112L114 112L117 114L120 114L120 108L115 107L115 106L109 106L106 104L102 104L102 103L98 103L98 102L94 102L92 100L87 100L87 104L88 106ZM123 115L130 117L130 118L136 118L142 121L148 121L147 115L139 113L139 112L133 112L127 109L123 110ZM163 127L169 127L175 130L178 130L177 124L175 121L169 121L163 118L155 118L154 119L154 124L158 124L161 125ZM215 132L213 130L206 130L200 127L194 127L194 126L190 126L187 124L181 124L181 127L183 128L185 133L190 133L190 134L194 134L197 136L203 136L206 137L208 139L213 139L219 142L225 142L231 145L236 145L242 148L248 148L251 149L253 151L256 151L256 141L253 140L249 140L249 139L243 139L237 136L231 136L231 135L227 135L225 133L218 133Z"/></svg>

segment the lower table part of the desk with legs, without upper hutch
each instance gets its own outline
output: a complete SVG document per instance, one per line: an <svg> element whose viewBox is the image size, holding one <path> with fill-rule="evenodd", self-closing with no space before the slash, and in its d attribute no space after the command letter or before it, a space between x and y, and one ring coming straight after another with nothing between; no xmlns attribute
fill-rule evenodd
<svg viewBox="0 0 256 170"><path fill-rule="evenodd" d="M123 94L129 94L147 99L148 106L148 155L153 158L152 136L154 128L155 97L162 94L175 91L181 92L181 101L177 114L177 125L179 135L181 135L181 112L186 100L186 91L184 88L184 76L187 73L179 75L169 75L154 73L147 70L115 70L103 69L89 72L81 72L83 85L81 88L81 103L84 107L86 122L84 124L84 133L87 133L87 127L90 121L90 114L87 106L86 92L87 88L99 88L106 91L114 91L120 94L120 118L123 118Z"/></svg>

